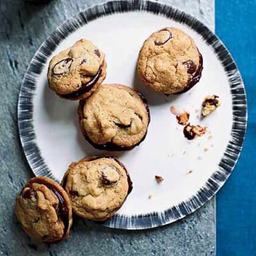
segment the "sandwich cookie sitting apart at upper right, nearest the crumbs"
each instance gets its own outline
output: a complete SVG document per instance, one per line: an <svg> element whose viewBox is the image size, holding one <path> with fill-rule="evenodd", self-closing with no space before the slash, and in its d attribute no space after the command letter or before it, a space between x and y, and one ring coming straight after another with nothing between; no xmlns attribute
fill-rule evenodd
<svg viewBox="0 0 256 256"><path fill-rule="evenodd" d="M201 78L202 55L193 38L180 29L166 27L144 41L137 68L143 83L155 91L183 93Z"/></svg>

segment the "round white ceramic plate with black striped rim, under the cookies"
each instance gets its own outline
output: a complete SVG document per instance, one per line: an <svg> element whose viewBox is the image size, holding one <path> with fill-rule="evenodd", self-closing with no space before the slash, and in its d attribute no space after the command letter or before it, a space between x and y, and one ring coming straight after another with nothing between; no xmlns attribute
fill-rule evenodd
<svg viewBox="0 0 256 256"><path fill-rule="evenodd" d="M155 30L169 26L194 38L204 58L204 69L193 89L166 97L141 84L136 65L144 40ZM146 140L131 151L113 152L129 169L133 190L123 207L104 225L147 229L194 212L227 180L244 140L246 95L229 52L200 21L157 2L108 2L66 21L36 52L20 91L21 143L36 176L60 181L71 162L85 155L110 153L94 149L84 140L78 129L78 102L61 99L48 88L49 60L83 37L105 52L104 82L140 90L151 110ZM218 95L222 105L201 120L198 115L208 94ZM171 106L190 112L191 124L207 126L207 134L187 140L183 127L169 110ZM155 175L162 176L163 182L157 183Z"/></svg>

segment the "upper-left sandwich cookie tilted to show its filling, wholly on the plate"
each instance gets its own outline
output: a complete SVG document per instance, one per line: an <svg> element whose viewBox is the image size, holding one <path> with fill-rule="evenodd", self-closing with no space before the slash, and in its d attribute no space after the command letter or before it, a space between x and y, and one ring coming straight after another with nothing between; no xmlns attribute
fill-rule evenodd
<svg viewBox="0 0 256 256"><path fill-rule="evenodd" d="M106 68L104 52L91 41L81 39L52 58L49 87L62 98L85 99L103 82Z"/></svg>

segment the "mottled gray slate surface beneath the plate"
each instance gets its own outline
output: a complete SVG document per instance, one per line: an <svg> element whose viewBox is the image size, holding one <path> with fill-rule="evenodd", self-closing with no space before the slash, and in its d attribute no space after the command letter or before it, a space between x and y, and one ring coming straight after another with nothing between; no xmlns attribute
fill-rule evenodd
<svg viewBox="0 0 256 256"><path fill-rule="evenodd" d="M0 0L0 252L1 255L215 255L215 199L187 218L152 230L112 230L74 218L68 240L38 244L13 215L15 196L30 177L17 128L21 81L38 46L63 21L103 1L52 0L33 5ZM214 0L164 1L214 28Z"/></svg>

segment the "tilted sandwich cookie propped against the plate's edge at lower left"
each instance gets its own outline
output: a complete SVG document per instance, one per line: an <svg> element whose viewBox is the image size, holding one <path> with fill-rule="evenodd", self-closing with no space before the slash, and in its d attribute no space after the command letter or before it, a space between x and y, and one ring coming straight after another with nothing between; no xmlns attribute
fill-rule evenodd
<svg viewBox="0 0 256 256"><path fill-rule="evenodd" d="M29 180L16 197L15 214L24 231L39 242L62 240L72 225L72 207L66 191L47 177Z"/></svg>

